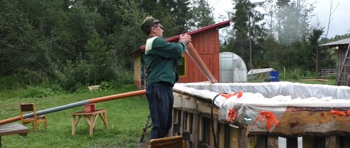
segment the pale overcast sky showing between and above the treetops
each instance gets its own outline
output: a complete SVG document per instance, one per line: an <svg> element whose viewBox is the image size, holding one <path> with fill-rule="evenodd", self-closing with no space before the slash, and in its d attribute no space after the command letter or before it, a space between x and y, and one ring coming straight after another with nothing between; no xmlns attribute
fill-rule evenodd
<svg viewBox="0 0 350 148"><path fill-rule="evenodd" d="M250 0L251 2L262 1L262 0ZM309 2L316 1L313 14L315 16L311 19L311 24L316 23L318 18L320 25L326 27L328 24L329 17L329 7L330 0L308 0ZM217 17L220 14L226 15L226 11L233 8L232 0L208 0L209 4L215 8L214 14ZM331 15L332 21L330 22L329 31L327 37L333 37L334 35L341 35L344 33L350 33L350 11L348 6L350 5L350 0L334 0L333 9L335 8L337 2L339 2L338 7L335 9ZM228 19L228 18L227 18ZM227 20L224 19L224 20Z"/></svg>

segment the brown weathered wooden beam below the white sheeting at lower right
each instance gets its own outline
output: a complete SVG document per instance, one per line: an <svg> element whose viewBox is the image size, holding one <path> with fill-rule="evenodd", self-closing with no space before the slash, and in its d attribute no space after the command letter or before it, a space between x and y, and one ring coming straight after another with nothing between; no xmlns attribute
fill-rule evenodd
<svg viewBox="0 0 350 148"><path fill-rule="evenodd" d="M248 135L266 134L267 130L257 124L247 125ZM329 111L293 111L284 112L270 135L294 137L302 135L350 134L350 122L347 116L329 113Z"/></svg>

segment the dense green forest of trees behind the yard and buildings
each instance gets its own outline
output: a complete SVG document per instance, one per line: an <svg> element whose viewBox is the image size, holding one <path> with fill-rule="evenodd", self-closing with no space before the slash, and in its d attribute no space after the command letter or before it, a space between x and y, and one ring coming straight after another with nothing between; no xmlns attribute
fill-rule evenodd
<svg viewBox="0 0 350 148"><path fill-rule="evenodd" d="M232 0L232 9L220 15L232 20L220 37L220 52L236 53L248 70L285 68L294 79L335 68L333 50L318 45L350 33L327 38L326 26L310 23L314 6L305 1ZM217 23L207 0L0 0L0 5L0 89L44 85L74 92L87 85L130 84L128 53L145 44L139 25L147 15L163 20L164 38Z"/></svg>

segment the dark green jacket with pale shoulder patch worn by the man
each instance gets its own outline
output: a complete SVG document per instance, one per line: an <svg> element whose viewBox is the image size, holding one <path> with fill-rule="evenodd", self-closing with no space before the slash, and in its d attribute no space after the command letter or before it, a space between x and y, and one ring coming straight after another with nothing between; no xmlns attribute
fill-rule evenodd
<svg viewBox="0 0 350 148"><path fill-rule="evenodd" d="M146 84L162 81L173 85L178 80L176 66L185 50L184 41L173 43L148 36L144 56L148 74Z"/></svg>

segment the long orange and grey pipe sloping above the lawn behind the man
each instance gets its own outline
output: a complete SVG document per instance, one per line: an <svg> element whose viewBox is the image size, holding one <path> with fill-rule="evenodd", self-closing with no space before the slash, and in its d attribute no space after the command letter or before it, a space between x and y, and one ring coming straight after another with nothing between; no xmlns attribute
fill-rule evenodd
<svg viewBox="0 0 350 148"><path fill-rule="evenodd" d="M92 104L92 103L97 103L97 102L102 102L102 101L108 101L108 100L136 96L136 95L143 95L143 94L146 94L146 90L137 90L137 91L125 92L125 93L108 95L108 96L103 96L103 97L91 98L91 99L87 99L87 100L83 100L83 101L79 101L79 102L74 102L74 103L70 103L70 104L65 104L65 105L61 105L61 106L57 106L57 107L53 107L53 108L48 108L48 109L36 111L36 114L37 115L47 114L47 113L60 111L60 110L64 110L64 109L69 109L69 108L82 106L82 105L86 105L86 104ZM32 116L34 116L34 113L27 113L27 114L23 115L23 117L32 117ZM5 123L9 123L9 122L13 122L13 121L17 121L17 120L20 120L20 115L15 116L15 117L11 117L11 118L7 118L4 120L0 120L0 125L5 124Z"/></svg>

